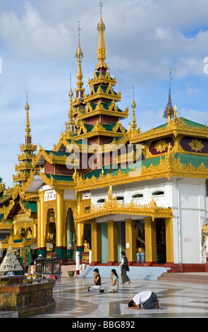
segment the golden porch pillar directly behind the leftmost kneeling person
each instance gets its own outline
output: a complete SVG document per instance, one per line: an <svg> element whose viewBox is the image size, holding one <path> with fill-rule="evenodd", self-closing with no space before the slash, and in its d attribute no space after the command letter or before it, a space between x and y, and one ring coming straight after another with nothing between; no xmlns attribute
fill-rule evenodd
<svg viewBox="0 0 208 332"><path fill-rule="evenodd" d="M101 263L101 225L91 223L92 265Z"/></svg>

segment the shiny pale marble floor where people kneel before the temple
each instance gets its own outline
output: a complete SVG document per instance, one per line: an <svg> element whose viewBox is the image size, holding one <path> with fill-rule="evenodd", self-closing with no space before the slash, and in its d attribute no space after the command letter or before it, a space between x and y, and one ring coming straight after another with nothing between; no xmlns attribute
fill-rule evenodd
<svg viewBox="0 0 208 332"><path fill-rule="evenodd" d="M102 280L102 286L110 280ZM118 293L88 292L90 279L62 277L54 287L56 308L31 318L205 318L208 317L208 285L169 281L135 281L119 285ZM127 309L137 292L152 290L161 310Z"/></svg>

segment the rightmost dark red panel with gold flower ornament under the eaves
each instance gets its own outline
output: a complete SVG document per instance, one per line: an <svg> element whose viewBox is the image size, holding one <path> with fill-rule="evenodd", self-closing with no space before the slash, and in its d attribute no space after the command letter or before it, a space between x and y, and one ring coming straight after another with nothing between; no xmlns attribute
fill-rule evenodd
<svg viewBox="0 0 208 332"><path fill-rule="evenodd" d="M183 150L193 153L208 153L208 140L184 136L180 141Z"/></svg>

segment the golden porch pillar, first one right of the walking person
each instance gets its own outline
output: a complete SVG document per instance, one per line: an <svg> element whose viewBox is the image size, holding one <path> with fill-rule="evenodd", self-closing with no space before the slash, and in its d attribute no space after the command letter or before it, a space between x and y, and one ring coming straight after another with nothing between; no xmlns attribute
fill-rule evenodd
<svg viewBox="0 0 208 332"><path fill-rule="evenodd" d="M145 261L157 263L156 222L145 218Z"/></svg>

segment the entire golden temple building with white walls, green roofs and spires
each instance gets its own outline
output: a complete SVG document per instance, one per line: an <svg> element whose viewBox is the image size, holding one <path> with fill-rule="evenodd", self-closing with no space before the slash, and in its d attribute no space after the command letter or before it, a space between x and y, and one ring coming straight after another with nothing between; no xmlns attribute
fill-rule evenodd
<svg viewBox="0 0 208 332"><path fill-rule="evenodd" d="M83 88L80 27L77 88L70 88L66 131L51 150L36 148L26 102L25 143L20 146L15 186L0 187L0 231L12 245L62 264L75 251L92 251L91 265L114 265L126 251L130 265L200 266L206 270L208 128L178 117L171 90L165 123L142 132L135 95L128 129L121 92L106 64L102 12L97 65ZM52 144L51 144L52 145ZM35 154L36 153L36 154ZM82 259L82 256L80 256Z"/></svg>

